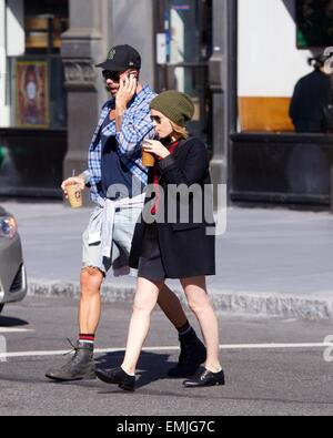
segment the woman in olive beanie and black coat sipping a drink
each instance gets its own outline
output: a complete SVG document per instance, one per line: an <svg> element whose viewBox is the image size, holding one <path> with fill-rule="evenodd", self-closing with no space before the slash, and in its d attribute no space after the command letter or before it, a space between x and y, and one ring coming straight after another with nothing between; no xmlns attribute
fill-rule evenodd
<svg viewBox="0 0 333 438"><path fill-rule="evenodd" d="M168 91L151 103L151 116L160 141L147 141L143 147L157 157L155 167L150 172L155 196L147 198L142 218L149 216L149 221L138 223L133 238L131 266L139 268L139 275L125 358L120 368L97 373L102 381L119 385L124 390L134 390L135 368L149 333L151 313L167 278L180 279L208 349L205 369L183 385L224 385L224 373L219 360L218 319L205 283L206 275L215 275L213 211L211 204L210 217L206 218L206 196L202 194L211 184L209 159L206 147L200 140L188 139L185 123L193 115L194 105L183 93ZM190 195L189 191L174 192L174 187L193 189L194 184L195 189ZM211 193L209 197L211 201ZM205 210L205 217L196 217L198 205L201 211L199 216L203 216ZM180 213L184 206L189 210L185 223L181 221ZM170 221L174 208L176 220Z"/></svg>

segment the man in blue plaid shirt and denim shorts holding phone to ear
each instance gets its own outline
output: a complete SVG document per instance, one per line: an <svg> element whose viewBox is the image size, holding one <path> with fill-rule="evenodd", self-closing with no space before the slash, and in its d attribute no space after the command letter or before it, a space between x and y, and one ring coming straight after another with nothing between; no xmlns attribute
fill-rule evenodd
<svg viewBox="0 0 333 438"><path fill-rule="evenodd" d="M94 379L93 347L101 315L100 289L109 269L131 251L134 227L144 203L148 172L142 166L144 139L154 136L149 104L155 93L139 82L141 57L130 45L110 50L97 65L111 99L103 105L89 150L89 171L63 182L90 186L97 203L83 234L83 267L79 306L80 336L75 354L61 368L47 373L58 381ZM204 363L206 350L190 326L178 297L165 286L159 305L179 332L181 356L169 377L189 377Z"/></svg>

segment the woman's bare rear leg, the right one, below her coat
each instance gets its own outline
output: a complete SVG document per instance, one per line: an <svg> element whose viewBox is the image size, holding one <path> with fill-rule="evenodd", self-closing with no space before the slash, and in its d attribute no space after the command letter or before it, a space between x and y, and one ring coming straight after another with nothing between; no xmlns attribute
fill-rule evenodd
<svg viewBox="0 0 333 438"><path fill-rule="evenodd" d="M205 367L212 373L221 370L219 323L210 303L205 277L193 277L181 281L191 310L196 316L206 345Z"/></svg>

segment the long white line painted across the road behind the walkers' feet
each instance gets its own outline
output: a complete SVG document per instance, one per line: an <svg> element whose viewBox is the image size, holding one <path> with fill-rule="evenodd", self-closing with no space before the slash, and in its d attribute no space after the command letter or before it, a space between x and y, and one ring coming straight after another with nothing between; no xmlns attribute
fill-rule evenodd
<svg viewBox="0 0 333 438"><path fill-rule="evenodd" d="M302 349L302 348L327 348L332 347L332 343L320 343L320 344L236 344L236 345L221 345L221 350L230 349ZM143 352L179 352L180 347L147 347ZM123 353L124 348L108 348L108 349L95 349L95 354L109 354L109 353ZM18 352L18 353L1 353L0 359L7 358L19 358L19 357L48 357L48 356L63 356L69 350L58 352Z"/></svg>

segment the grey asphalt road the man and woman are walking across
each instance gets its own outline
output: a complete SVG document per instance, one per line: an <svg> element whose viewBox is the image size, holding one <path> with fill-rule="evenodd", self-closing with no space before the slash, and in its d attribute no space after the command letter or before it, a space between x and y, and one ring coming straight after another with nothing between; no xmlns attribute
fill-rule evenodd
<svg viewBox="0 0 333 438"><path fill-rule="evenodd" d="M97 355L100 365L121 363L130 313L129 304L104 306L97 348L112 352ZM12 357L0 355L0 416L333 415L333 363L324 360L321 345L333 335L330 323L221 314L228 385L188 390L180 380L165 378L178 358L178 340L157 310L147 342L152 349L140 360L139 388L124 394L99 381L59 385L43 377L63 361L61 352L70 350L65 338L75 340L75 303L54 298L28 298L4 309L0 346L3 350L7 345ZM46 356L48 352L54 356Z"/></svg>

